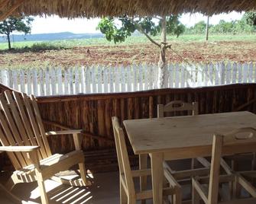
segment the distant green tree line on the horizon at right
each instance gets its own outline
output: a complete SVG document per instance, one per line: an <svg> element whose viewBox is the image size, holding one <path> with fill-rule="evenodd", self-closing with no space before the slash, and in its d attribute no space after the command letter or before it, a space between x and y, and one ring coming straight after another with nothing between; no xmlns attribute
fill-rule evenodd
<svg viewBox="0 0 256 204"><path fill-rule="evenodd" d="M206 22L199 21L193 27L186 27L186 34L203 34L206 32ZM255 33L256 32L256 11L246 12L238 21L219 21L219 24L209 24L209 33Z"/></svg>

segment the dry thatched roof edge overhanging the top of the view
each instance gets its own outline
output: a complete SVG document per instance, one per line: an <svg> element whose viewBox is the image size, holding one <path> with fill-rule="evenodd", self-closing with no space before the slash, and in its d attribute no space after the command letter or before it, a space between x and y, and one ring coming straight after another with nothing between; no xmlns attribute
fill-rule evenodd
<svg viewBox="0 0 256 204"><path fill-rule="evenodd" d="M167 15L197 11L212 15L255 9L256 0L0 0L0 18L4 13L9 13L11 8L13 14L57 14L68 18L122 14Z"/></svg>

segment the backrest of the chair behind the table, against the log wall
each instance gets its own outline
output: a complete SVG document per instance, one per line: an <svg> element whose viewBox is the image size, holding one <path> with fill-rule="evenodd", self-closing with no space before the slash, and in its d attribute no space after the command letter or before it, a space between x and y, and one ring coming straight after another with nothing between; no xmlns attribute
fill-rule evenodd
<svg viewBox="0 0 256 204"><path fill-rule="evenodd" d="M198 115L198 103L185 103L182 100L173 100L170 103L157 105L157 118L164 117L164 113L177 111L192 111L192 115Z"/></svg>

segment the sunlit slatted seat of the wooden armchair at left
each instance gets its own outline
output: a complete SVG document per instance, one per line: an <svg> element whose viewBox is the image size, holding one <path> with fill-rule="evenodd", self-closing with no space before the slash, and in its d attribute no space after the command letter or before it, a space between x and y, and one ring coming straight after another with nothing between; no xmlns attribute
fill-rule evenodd
<svg viewBox="0 0 256 204"><path fill-rule="evenodd" d="M44 178L52 177L60 171L64 171L69 167L72 167L79 162L84 161L84 155L82 150L70 151L65 155L55 154L48 158L44 158L40 161L41 171ZM31 182L36 180L34 171L34 164L23 167L22 169L15 171L13 177L17 177L18 180L23 182Z"/></svg>

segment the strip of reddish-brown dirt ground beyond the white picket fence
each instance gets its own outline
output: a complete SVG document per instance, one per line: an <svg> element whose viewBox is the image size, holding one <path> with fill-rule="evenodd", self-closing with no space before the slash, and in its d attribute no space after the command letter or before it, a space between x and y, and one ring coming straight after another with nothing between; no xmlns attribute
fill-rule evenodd
<svg viewBox="0 0 256 204"><path fill-rule="evenodd" d="M168 62L255 62L255 41L219 41L214 43L173 43L167 51ZM159 50L151 43L123 46L75 46L70 49L40 52L0 52L0 67L61 65L116 65L156 63Z"/></svg>

